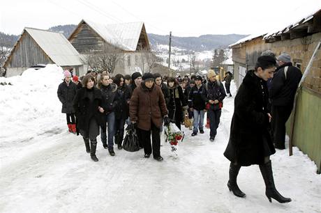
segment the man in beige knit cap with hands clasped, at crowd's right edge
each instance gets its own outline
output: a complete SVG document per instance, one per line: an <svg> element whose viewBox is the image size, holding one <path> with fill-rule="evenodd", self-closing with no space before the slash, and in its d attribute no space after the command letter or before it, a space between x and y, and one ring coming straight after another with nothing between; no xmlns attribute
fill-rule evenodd
<svg viewBox="0 0 321 213"><path fill-rule="evenodd" d="M220 124L221 109L223 107L223 99L226 96L225 89L221 81L216 79L214 70L209 70L207 73L209 82L203 86L202 98L207 103L207 113L209 113L209 140L214 141L216 129Z"/></svg>

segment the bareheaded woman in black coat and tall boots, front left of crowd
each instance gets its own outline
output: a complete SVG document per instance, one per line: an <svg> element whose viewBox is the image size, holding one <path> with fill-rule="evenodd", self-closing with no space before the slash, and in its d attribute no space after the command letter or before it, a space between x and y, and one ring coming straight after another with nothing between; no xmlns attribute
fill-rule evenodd
<svg viewBox="0 0 321 213"><path fill-rule="evenodd" d="M101 91L94 87L95 77L87 74L82 79L82 87L77 91L73 100L73 108L77 117L77 129L84 139L86 152L90 152L91 159L98 161L96 157L97 136L99 135L99 126L103 126L103 100ZM89 146L90 140L90 146Z"/></svg>

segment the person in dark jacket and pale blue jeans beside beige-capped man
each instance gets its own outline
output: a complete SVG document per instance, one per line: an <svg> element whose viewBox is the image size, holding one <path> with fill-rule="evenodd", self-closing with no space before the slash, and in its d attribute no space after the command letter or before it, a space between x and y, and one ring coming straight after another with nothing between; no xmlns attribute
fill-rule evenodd
<svg viewBox="0 0 321 213"><path fill-rule="evenodd" d="M195 86L191 88L188 95L188 107L190 111L193 111L194 115L192 136L195 136L198 130L200 130L200 134L204 133L205 102L202 99L202 92L202 77L198 76L195 81Z"/></svg>

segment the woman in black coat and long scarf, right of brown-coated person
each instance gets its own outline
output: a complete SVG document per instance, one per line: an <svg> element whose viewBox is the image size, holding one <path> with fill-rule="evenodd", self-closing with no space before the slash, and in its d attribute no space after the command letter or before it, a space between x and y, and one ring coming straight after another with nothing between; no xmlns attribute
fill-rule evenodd
<svg viewBox="0 0 321 213"><path fill-rule="evenodd" d="M184 97L183 89L177 84L176 79L170 77L167 79L168 90L170 97L166 103L168 109L168 117L181 129L181 122L183 121L183 110L187 110L188 106Z"/></svg>

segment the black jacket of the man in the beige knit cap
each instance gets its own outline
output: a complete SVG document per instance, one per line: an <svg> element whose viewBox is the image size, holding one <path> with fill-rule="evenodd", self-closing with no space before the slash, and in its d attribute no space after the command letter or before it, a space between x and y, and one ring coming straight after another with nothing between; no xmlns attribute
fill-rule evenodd
<svg viewBox="0 0 321 213"><path fill-rule="evenodd" d="M209 100L218 100L217 104L210 105L210 110L220 110L219 104L220 102L223 103L225 96L225 88L221 81L209 81L207 84L203 84L202 98L204 102L207 103Z"/></svg>

